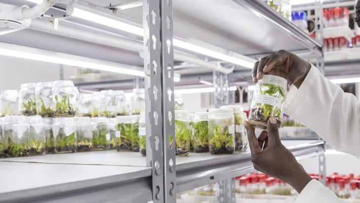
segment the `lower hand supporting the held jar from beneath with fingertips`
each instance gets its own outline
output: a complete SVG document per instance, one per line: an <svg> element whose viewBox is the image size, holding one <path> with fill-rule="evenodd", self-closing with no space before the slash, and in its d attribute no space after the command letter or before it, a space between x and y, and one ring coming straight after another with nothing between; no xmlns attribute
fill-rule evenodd
<svg viewBox="0 0 360 203"><path fill-rule="evenodd" d="M258 138L249 122L245 127L254 169L287 182L300 193L311 177L281 143L276 117L270 117L267 131L262 131Z"/></svg>

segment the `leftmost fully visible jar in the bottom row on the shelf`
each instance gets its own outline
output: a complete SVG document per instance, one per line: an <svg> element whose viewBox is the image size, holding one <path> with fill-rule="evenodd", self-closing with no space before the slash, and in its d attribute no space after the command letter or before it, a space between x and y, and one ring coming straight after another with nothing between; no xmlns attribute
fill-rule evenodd
<svg viewBox="0 0 360 203"><path fill-rule="evenodd" d="M25 116L5 118L4 152L6 157L29 156L29 123Z"/></svg>

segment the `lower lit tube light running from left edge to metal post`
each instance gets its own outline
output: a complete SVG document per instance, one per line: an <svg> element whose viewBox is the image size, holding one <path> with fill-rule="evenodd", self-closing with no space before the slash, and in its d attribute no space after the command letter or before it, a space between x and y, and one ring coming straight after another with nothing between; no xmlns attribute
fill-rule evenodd
<svg viewBox="0 0 360 203"><path fill-rule="evenodd" d="M133 66L0 42L0 55L144 77Z"/></svg>

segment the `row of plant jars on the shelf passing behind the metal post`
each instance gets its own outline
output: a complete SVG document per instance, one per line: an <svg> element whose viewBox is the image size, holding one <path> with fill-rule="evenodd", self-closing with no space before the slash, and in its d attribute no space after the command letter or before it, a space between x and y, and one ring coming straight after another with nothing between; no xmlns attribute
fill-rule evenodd
<svg viewBox="0 0 360 203"><path fill-rule="evenodd" d="M195 153L232 154L246 151L248 137L244 127L247 119L240 105L222 106L209 112L188 113L175 110L175 139L170 135L169 144L175 145L177 156ZM146 155L145 119L139 122L140 152Z"/></svg>

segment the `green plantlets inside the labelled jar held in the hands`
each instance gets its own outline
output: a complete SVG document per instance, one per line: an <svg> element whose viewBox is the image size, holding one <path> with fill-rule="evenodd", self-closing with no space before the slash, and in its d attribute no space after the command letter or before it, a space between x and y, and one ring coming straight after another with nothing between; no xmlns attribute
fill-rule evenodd
<svg viewBox="0 0 360 203"><path fill-rule="evenodd" d="M285 102L285 92L283 88L278 85L273 84L260 84L259 85L259 94L268 95L282 99L281 103ZM266 129L267 121L271 116L278 118L278 126L281 126L281 119L283 117L283 111L281 108L278 108L273 105L256 103L256 107L252 108L250 115L250 123L254 126Z"/></svg>

